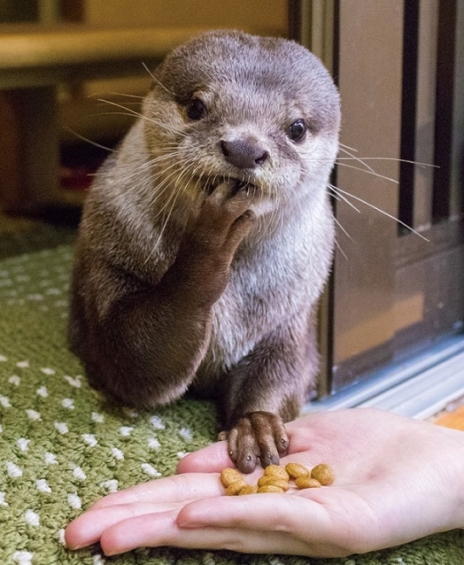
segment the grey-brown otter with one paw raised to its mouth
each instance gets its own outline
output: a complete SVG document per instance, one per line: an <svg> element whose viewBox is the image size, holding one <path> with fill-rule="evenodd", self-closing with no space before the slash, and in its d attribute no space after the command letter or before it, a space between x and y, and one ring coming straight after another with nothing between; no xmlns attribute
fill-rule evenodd
<svg viewBox="0 0 464 565"><path fill-rule="evenodd" d="M303 46L238 31L175 48L153 79L84 205L69 342L124 405L214 399L248 473L287 452L315 384L339 96Z"/></svg>

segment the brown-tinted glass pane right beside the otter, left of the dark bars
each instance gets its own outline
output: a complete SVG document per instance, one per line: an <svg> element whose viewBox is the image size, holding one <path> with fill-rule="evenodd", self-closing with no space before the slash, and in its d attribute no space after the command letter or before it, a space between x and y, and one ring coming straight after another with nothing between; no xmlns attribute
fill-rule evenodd
<svg viewBox="0 0 464 565"><path fill-rule="evenodd" d="M346 146L340 151L337 186L346 192L337 199L336 213L348 236L340 231L335 258L332 391L392 357L396 223L360 200L393 216L398 212L402 19L399 0L340 2L341 141ZM375 157L381 159L371 160Z"/></svg>

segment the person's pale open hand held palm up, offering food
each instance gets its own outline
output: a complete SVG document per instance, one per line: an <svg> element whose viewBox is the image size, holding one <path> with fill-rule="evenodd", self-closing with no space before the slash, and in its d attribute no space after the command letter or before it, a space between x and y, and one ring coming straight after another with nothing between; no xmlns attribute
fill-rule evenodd
<svg viewBox="0 0 464 565"><path fill-rule="evenodd" d="M173 477L98 501L67 527L68 547L342 557L464 529L464 432L371 409L313 414L286 429L281 464L328 463L331 486L225 496L218 473L232 462L219 442L182 459Z"/></svg>

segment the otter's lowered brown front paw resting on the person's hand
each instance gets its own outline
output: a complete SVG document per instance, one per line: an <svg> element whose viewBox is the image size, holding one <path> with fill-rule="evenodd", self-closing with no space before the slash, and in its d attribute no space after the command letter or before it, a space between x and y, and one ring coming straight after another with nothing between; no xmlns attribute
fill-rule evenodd
<svg viewBox="0 0 464 565"><path fill-rule="evenodd" d="M288 449L283 420L270 412L250 412L227 434L229 455L242 473L251 473L258 462L277 465Z"/></svg>

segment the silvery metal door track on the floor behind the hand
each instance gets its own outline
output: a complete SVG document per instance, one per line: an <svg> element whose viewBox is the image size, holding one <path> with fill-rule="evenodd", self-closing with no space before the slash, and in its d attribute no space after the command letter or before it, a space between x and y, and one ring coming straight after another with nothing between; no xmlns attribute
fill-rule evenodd
<svg viewBox="0 0 464 565"><path fill-rule="evenodd" d="M426 419L464 396L464 335L454 336L402 363L378 371L366 382L308 402L303 414L370 407Z"/></svg>

